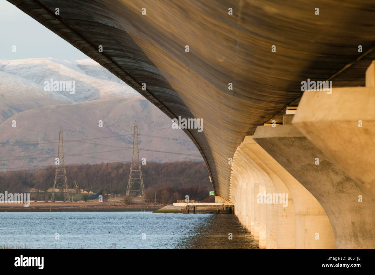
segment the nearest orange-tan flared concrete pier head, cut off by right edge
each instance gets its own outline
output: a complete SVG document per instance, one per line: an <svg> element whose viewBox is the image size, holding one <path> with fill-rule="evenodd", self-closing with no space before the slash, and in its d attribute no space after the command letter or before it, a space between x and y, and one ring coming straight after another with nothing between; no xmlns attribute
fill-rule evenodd
<svg viewBox="0 0 375 275"><path fill-rule="evenodd" d="M306 91L293 124L375 198L375 62L366 87ZM374 209L375 211L375 209Z"/></svg>

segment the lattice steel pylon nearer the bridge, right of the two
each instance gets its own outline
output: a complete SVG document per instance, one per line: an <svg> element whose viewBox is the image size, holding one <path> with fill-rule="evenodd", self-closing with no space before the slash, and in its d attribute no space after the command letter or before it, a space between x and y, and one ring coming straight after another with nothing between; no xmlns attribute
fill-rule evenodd
<svg viewBox="0 0 375 275"><path fill-rule="evenodd" d="M135 121L134 123L133 155L132 155L132 164L130 166L129 181L127 182L126 196L144 197L142 170L141 170L141 163L139 162L137 121Z"/></svg>

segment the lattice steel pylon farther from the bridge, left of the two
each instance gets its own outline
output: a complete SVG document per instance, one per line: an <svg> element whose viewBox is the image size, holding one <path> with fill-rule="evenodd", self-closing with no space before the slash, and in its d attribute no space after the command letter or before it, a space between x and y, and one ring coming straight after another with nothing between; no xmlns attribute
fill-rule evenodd
<svg viewBox="0 0 375 275"><path fill-rule="evenodd" d="M51 202L55 202L57 196L60 193L64 194L64 202L70 201L68 182L66 179L66 170L64 162L64 143L63 143L63 130L60 126L60 132L58 134L58 164L56 166L55 180L53 182ZM62 187L62 189L59 189Z"/></svg>

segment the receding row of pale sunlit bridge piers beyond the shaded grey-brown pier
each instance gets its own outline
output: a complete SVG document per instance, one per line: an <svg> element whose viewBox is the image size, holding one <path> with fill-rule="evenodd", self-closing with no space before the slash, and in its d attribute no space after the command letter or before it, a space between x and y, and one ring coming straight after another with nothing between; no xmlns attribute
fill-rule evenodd
<svg viewBox="0 0 375 275"><path fill-rule="evenodd" d="M264 163L253 153L260 155ZM268 166L265 164L267 163ZM272 167L282 178L288 182L292 191L289 191L284 182L270 168ZM279 166L279 167L277 167ZM232 164L233 174L240 171L241 176L231 177L231 200L236 202L236 214L239 215L243 224L248 224L249 214L254 211L254 232L258 239L260 248L267 249L334 249L336 248L335 236L329 219L318 201L293 178L280 164L278 164L264 149L262 149L251 136L247 136L244 142L237 148ZM247 176L248 175L248 176ZM250 190L250 196L244 189L246 185L253 183L254 190L263 194L262 187L266 193L289 193L288 206L279 204L257 203L256 191ZM264 182L264 183L263 183ZM293 194L297 196L297 205L294 205ZM253 200L251 201L251 198ZM253 209L248 208L248 202L252 202ZM266 212L262 211L262 206ZM284 210L285 209L285 210ZM250 210L250 211L249 211ZM255 212L257 211L257 212ZM259 229L257 227L259 211ZM262 217L266 216L266 234L263 235ZM246 215L246 216L245 216ZM316 241L315 233L325 236L324 241ZM328 236L328 238L327 238ZM264 237L266 238L264 240ZM265 244L265 245L264 245Z"/></svg>

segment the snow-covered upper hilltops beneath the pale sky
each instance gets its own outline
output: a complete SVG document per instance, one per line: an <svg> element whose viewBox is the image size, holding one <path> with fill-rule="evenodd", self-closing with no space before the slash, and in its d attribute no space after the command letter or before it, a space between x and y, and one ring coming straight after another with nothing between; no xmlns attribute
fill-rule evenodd
<svg viewBox="0 0 375 275"><path fill-rule="evenodd" d="M95 61L66 61L54 58L0 60L0 71L19 76L35 84L48 87L52 82L71 81L74 93L68 89L53 91L74 102L101 98L129 97L139 94ZM74 81L74 82L73 82Z"/></svg>

